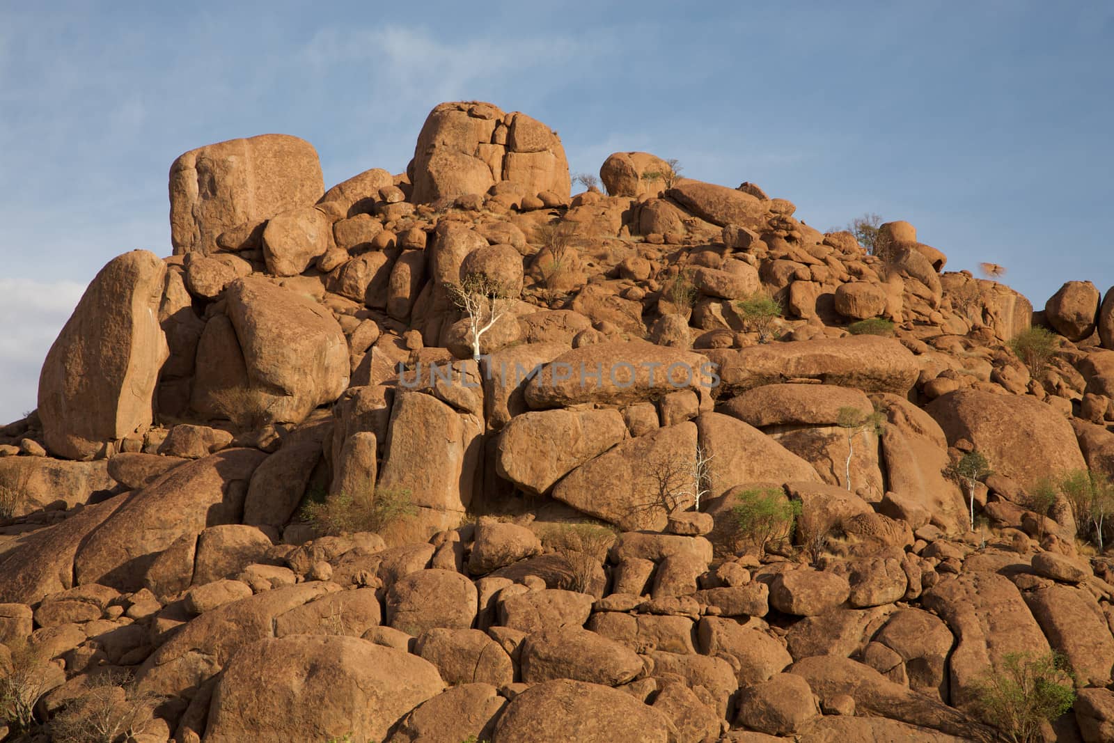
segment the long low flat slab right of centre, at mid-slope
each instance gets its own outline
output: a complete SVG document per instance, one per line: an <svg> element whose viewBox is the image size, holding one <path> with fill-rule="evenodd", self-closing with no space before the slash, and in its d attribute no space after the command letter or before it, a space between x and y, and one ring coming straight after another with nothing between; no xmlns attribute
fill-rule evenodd
<svg viewBox="0 0 1114 743"><path fill-rule="evenodd" d="M813 379L864 392L903 395L920 373L908 349L893 339L877 335L713 349L706 355L719 366L721 385L726 392Z"/></svg>

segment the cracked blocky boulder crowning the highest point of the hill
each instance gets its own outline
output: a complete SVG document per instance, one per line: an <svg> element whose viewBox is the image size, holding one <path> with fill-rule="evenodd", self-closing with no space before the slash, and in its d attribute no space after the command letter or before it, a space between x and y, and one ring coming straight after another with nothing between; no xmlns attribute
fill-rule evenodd
<svg viewBox="0 0 1114 743"><path fill-rule="evenodd" d="M485 194L510 182L525 196L550 192L568 198L571 182L560 138L526 114L491 104L440 104L414 147L413 201Z"/></svg>

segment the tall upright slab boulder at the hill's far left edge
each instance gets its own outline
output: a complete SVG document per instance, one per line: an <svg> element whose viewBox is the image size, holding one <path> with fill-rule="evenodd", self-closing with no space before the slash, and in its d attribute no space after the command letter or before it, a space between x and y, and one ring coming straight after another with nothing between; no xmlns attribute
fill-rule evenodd
<svg viewBox="0 0 1114 743"><path fill-rule="evenodd" d="M133 251L111 260L78 302L39 375L47 448L86 459L152 423L158 371L169 355L158 324L166 265Z"/></svg>

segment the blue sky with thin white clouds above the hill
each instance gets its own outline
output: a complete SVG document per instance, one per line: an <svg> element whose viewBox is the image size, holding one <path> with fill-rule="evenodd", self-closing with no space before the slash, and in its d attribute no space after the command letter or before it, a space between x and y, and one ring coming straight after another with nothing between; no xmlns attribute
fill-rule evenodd
<svg viewBox="0 0 1114 743"><path fill-rule="evenodd" d="M1114 283L1110 2L223 4L0 0L0 422L96 271L169 253L177 155L277 131L326 186L400 172L442 100L541 119L574 173L645 149L821 229L908 219L1038 309Z"/></svg>

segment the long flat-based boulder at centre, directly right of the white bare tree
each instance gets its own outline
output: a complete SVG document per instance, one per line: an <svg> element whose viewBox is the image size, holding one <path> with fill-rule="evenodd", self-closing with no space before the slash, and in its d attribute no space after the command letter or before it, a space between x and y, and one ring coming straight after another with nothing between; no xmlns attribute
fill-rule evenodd
<svg viewBox="0 0 1114 743"><path fill-rule="evenodd" d="M711 365L700 354L644 341L610 341L574 349L545 364L526 385L526 402L535 410L622 404L688 389L709 399L712 381Z"/></svg>

